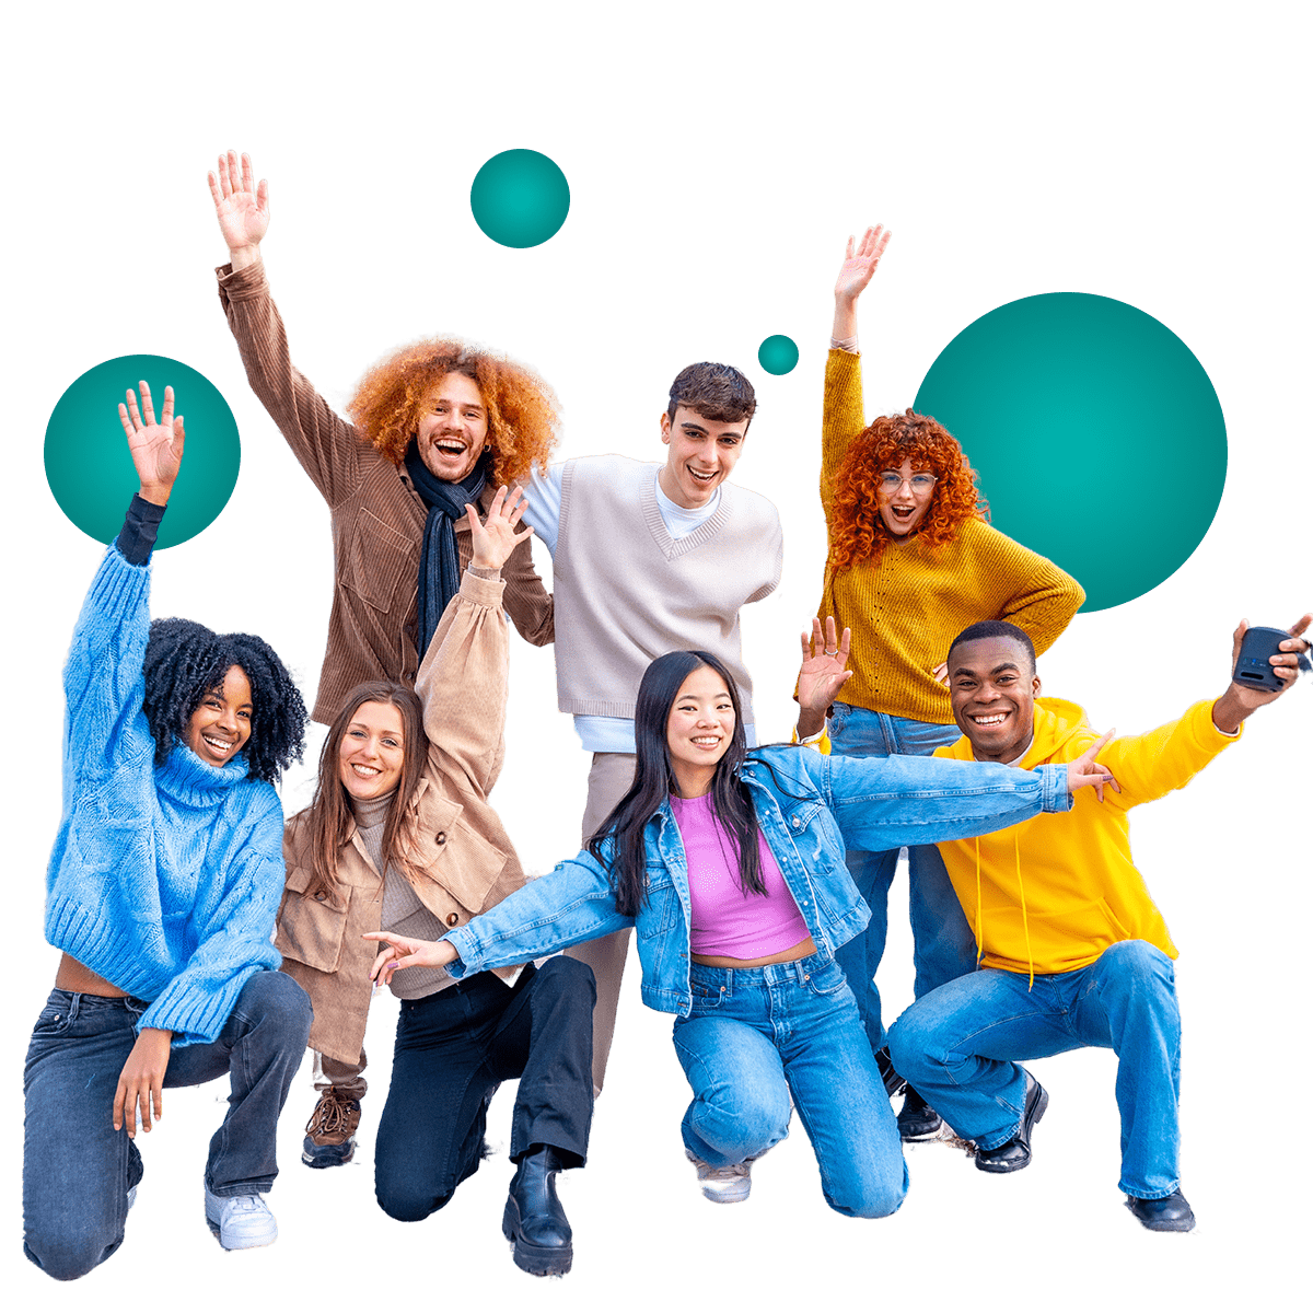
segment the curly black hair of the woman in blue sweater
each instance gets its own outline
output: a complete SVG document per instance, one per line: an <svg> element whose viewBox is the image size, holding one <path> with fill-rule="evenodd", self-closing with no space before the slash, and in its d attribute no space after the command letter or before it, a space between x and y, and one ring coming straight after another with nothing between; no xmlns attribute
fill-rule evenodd
<svg viewBox="0 0 1313 1313"><path fill-rule="evenodd" d="M185 735L201 699L223 685L223 676L232 666L240 666L251 681L251 738L244 748L249 764L247 779L277 785L282 772L305 758L310 727L305 671L286 666L259 634L217 634L180 616L151 621L142 662L155 764L164 763Z"/></svg>

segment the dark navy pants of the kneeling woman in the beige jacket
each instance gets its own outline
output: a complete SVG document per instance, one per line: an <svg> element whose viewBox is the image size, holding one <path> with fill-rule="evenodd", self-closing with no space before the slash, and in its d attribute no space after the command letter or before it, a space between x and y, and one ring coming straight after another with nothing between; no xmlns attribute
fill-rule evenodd
<svg viewBox="0 0 1313 1313"><path fill-rule="evenodd" d="M479 1166L487 1102L519 1079L511 1158L553 1145L582 1167L592 1120L592 969L553 957L513 989L491 972L402 1002L393 1079L374 1144L374 1195L389 1217L418 1222Z"/></svg>

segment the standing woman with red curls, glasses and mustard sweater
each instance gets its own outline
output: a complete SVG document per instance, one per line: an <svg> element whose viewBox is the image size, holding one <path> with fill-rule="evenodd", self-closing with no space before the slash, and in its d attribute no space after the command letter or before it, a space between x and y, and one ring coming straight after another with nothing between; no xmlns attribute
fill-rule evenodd
<svg viewBox="0 0 1313 1313"><path fill-rule="evenodd" d="M842 756L924 755L952 743L944 660L977 620L1008 620L1045 651L1085 601L1052 561L990 528L957 441L911 410L877 412L868 424L857 351L857 301L890 234L848 238L834 285L834 328L821 411L821 507L826 567L821 616L852 630L853 674L831 709L831 751ZM800 727L801 733L801 727ZM871 1045L895 1091L874 977L885 952L889 886L897 852L850 852L848 869L871 905L871 926L839 953ZM915 995L976 964L976 945L952 886L910 852L909 910ZM931 871L941 872L932 867ZM909 1090L905 1140L934 1136L939 1117Z"/></svg>

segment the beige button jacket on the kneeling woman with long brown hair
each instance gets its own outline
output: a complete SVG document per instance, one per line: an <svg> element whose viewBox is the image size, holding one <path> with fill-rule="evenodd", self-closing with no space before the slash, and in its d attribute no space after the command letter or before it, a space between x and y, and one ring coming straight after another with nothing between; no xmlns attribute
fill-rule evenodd
<svg viewBox="0 0 1313 1313"><path fill-rule="evenodd" d="M419 668L428 764L407 806L416 817L411 878L419 899L449 927L494 907L524 881L524 867L488 794L506 756L509 632L503 580L466 571ZM282 969L315 1010L310 1045L339 1062L358 1062L378 945L361 939L379 928L382 873L360 835L337 855L335 897L306 898L311 882L305 813L288 821L288 882L276 944Z"/></svg>

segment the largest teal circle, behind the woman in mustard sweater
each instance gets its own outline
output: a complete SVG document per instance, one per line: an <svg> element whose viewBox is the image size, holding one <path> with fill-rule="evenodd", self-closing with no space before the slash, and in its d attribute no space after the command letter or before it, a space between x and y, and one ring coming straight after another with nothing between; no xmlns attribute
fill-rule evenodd
<svg viewBox="0 0 1313 1313"><path fill-rule="evenodd" d="M968 324L915 407L979 470L995 528L1056 561L1082 611L1157 588L1213 523L1226 423L1204 366L1111 297L1024 297Z"/></svg>

